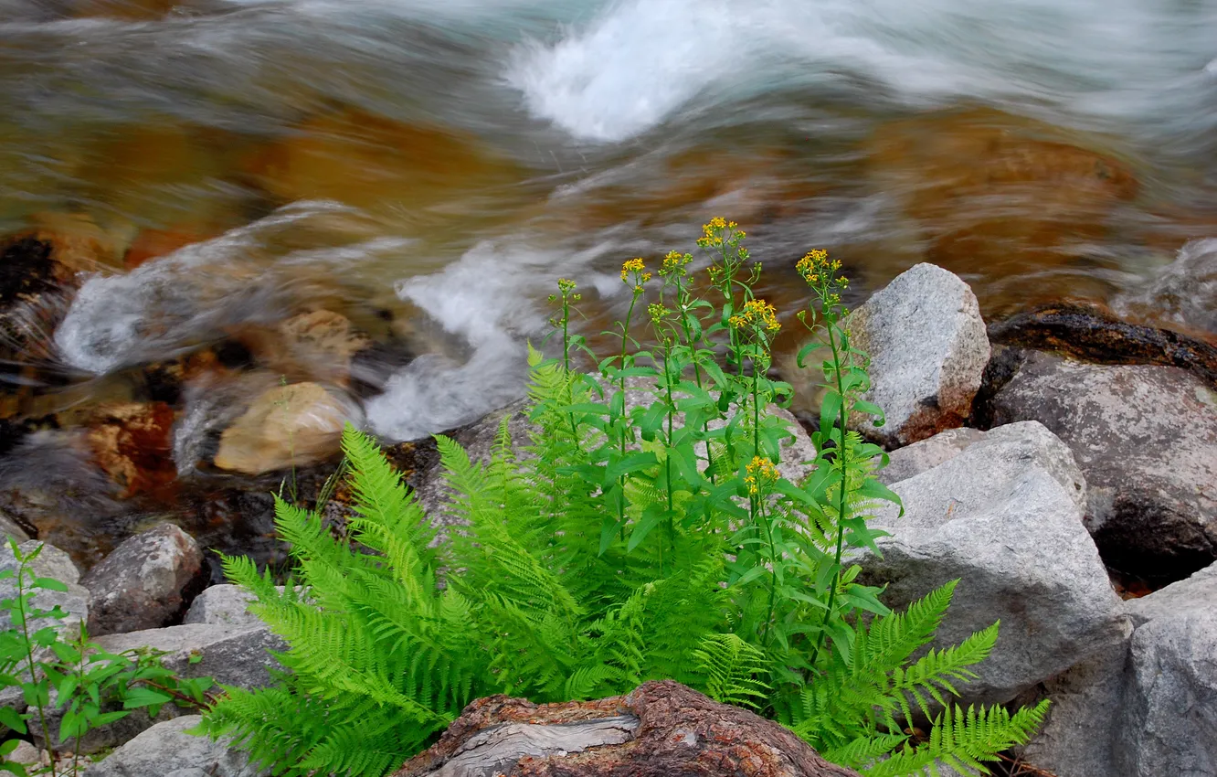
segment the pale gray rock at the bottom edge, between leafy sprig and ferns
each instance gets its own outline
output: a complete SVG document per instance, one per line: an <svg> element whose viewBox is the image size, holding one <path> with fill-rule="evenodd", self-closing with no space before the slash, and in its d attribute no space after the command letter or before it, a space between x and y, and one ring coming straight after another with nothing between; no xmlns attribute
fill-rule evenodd
<svg viewBox="0 0 1217 777"><path fill-rule="evenodd" d="M97 761L85 777L258 777L268 772L249 765L245 753L225 740L187 734L197 715L157 723Z"/></svg>

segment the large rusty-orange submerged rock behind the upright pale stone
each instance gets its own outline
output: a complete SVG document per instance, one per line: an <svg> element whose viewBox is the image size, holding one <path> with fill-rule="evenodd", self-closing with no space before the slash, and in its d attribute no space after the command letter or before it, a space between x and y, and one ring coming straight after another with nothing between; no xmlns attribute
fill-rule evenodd
<svg viewBox="0 0 1217 777"><path fill-rule="evenodd" d="M914 220L930 261L1005 276L1067 263L1137 196L1127 164L1082 142L1098 141L993 110L933 113L876 132L867 168Z"/></svg>

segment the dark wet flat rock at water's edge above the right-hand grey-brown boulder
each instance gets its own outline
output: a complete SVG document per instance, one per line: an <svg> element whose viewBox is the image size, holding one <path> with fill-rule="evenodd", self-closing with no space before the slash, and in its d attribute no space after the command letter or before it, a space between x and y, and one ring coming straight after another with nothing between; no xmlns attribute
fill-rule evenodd
<svg viewBox="0 0 1217 777"><path fill-rule="evenodd" d="M1095 364L1157 364L1217 386L1217 343L1171 329L1123 322L1093 304L1061 303L989 324L996 343L1053 351Z"/></svg>

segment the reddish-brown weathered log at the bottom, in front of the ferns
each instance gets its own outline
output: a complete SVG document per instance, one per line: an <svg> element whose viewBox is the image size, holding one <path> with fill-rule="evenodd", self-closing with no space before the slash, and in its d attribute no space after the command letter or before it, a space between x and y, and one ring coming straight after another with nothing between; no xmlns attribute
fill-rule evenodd
<svg viewBox="0 0 1217 777"><path fill-rule="evenodd" d="M624 697L473 701L393 777L858 777L793 733L680 683Z"/></svg>

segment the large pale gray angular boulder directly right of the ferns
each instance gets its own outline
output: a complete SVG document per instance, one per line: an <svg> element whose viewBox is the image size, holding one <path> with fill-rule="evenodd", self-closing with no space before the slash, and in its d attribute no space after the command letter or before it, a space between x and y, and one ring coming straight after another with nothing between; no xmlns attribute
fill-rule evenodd
<svg viewBox="0 0 1217 777"><path fill-rule="evenodd" d="M954 458L892 488L905 514L871 522L891 533L882 558L858 559L899 608L960 578L938 631L953 644L1002 621L966 699L1004 703L1123 638L1126 619L1082 525L1086 481L1041 424L994 429Z"/></svg>

